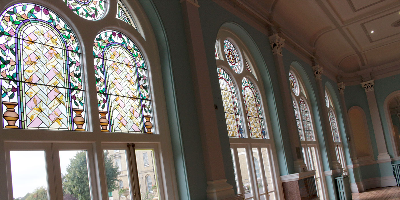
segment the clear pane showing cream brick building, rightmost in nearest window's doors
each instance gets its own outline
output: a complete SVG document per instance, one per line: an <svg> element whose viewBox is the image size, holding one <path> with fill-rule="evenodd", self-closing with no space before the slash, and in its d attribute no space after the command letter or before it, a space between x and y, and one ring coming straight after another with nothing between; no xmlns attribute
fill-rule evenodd
<svg viewBox="0 0 400 200"><path fill-rule="evenodd" d="M148 165L146 166L143 160L144 153L147 153L148 156ZM135 154L142 200L158 200L158 193L160 190L158 189L154 150L135 150Z"/></svg>

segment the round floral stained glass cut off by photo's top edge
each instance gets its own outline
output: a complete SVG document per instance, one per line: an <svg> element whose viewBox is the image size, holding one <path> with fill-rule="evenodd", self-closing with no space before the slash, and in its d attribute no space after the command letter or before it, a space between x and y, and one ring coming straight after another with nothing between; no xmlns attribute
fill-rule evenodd
<svg viewBox="0 0 400 200"><path fill-rule="evenodd" d="M74 13L87 20L99 20L106 10L106 0L63 0Z"/></svg>

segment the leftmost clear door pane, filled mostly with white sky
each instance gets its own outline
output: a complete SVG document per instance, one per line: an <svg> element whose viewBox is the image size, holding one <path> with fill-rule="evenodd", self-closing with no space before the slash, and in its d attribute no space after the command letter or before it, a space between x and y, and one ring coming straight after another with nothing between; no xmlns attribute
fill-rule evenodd
<svg viewBox="0 0 400 200"><path fill-rule="evenodd" d="M10 151L14 199L48 199L44 151Z"/></svg>

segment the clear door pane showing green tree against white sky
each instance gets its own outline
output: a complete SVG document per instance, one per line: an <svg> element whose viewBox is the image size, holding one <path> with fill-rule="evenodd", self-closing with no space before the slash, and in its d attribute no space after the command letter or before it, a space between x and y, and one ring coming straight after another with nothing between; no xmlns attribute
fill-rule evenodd
<svg viewBox="0 0 400 200"><path fill-rule="evenodd" d="M59 153L64 200L90 200L87 152L62 150Z"/></svg>

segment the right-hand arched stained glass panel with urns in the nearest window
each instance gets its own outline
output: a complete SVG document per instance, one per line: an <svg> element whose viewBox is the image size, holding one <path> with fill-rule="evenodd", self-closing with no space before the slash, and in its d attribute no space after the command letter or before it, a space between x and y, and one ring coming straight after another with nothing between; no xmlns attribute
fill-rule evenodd
<svg viewBox="0 0 400 200"><path fill-rule="evenodd" d="M138 47L105 30L96 36L93 55L102 131L152 133L147 69Z"/></svg>

